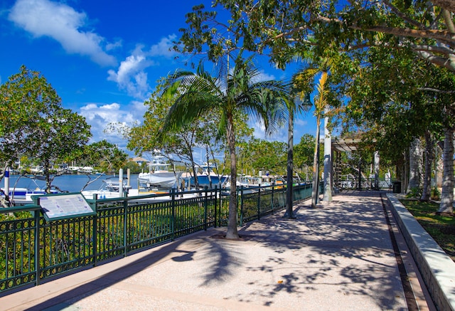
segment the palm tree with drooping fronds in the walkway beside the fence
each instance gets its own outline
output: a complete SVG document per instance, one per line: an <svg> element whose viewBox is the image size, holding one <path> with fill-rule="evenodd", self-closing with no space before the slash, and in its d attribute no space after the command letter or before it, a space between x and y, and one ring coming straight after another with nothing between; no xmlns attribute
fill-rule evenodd
<svg viewBox="0 0 455 311"><path fill-rule="evenodd" d="M237 233L237 159L235 154L235 115L237 111L264 122L267 133L286 120L287 110L283 98L289 93L289 85L282 81L259 80L259 70L252 57L244 60L237 56L232 71L221 66L216 77L200 64L196 73L177 71L168 77L167 95L177 90L180 95L169 110L164 132L197 120L208 111L218 112L218 138L223 135L230 152L230 200L228 232L226 238L239 238Z"/></svg>

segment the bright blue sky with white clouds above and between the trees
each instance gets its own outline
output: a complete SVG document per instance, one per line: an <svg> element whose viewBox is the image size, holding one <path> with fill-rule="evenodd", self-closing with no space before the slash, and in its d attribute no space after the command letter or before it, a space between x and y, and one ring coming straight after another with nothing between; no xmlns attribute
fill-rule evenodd
<svg viewBox="0 0 455 311"><path fill-rule="evenodd" d="M150 0L6 0L0 4L0 83L21 65L41 72L63 106L83 115L92 126L92 142L127 142L103 130L109 122L131 126L141 122L143 105L156 80L183 68L168 51L185 28L192 6L211 1ZM287 79L294 73L276 70L261 60L265 79ZM189 68L188 68L189 69ZM257 137L264 138L258 125ZM314 117L296 120L294 143L314 135ZM274 140L287 141L287 130ZM133 156L131 152L130 155Z"/></svg>

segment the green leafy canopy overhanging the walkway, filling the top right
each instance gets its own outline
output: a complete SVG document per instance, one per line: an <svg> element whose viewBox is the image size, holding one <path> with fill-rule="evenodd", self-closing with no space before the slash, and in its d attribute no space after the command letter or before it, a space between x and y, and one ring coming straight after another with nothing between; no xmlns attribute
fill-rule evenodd
<svg viewBox="0 0 455 311"><path fill-rule="evenodd" d="M454 115L448 105L454 101L454 48L438 52L454 46L454 38L442 35L454 26L450 16L442 18L451 13L434 4L217 0L214 6L225 14L193 8L176 50L218 60L243 48L267 54L279 68L296 58L331 59L338 92L328 100L337 107L349 102L333 112L344 116L337 122L347 131L368 132L365 139L375 142L381 159L398 162L416 133L441 131L441 111ZM308 76L297 78L297 87L311 90Z"/></svg>

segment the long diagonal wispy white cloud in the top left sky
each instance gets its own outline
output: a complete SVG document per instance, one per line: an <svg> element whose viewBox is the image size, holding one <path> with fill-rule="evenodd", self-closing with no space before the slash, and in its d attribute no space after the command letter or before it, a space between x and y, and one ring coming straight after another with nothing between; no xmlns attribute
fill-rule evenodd
<svg viewBox="0 0 455 311"><path fill-rule="evenodd" d="M18 0L11 8L9 20L36 38L53 38L68 53L89 56L100 65L117 63L114 56L102 49L105 38L81 29L86 25L86 14L66 4L48 0Z"/></svg>

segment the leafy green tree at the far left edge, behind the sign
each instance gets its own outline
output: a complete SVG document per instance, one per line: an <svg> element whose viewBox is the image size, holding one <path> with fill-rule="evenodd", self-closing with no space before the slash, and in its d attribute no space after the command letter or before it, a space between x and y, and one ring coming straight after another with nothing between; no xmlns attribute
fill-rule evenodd
<svg viewBox="0 0 455 311"><path fill-rule="evenodd" d="M19 154L39 159L46 191L50 191L53 164L82 148L91 137L85 118L64 109L45 78L25 66L1 85L0 120L4 121L1 148L7 160L17 159Z"/></svg>

